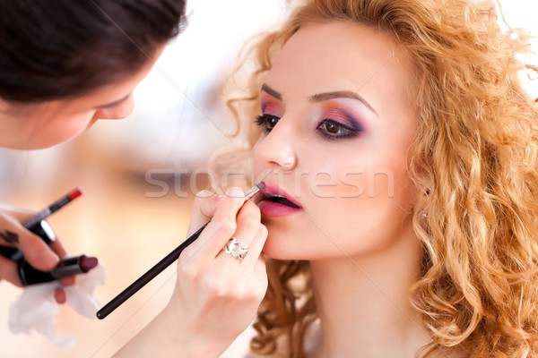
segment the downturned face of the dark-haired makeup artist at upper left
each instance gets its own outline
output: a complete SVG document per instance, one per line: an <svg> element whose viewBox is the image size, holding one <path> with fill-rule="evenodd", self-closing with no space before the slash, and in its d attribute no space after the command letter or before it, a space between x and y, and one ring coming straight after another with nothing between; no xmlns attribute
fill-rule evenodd
<svg viewBox="0 0 538 358"><path fill-rule="evenodd" d="M161 54L161 49L158 55ZM154 58L156 59L157 56ZM99 119L121 119L133 112L133 90L152 69L153 61L124 80L80 98L66 98L17 107L0 106L0 147L43 149L78 136ZM13 115L12 115L13 114Z"/></svg>

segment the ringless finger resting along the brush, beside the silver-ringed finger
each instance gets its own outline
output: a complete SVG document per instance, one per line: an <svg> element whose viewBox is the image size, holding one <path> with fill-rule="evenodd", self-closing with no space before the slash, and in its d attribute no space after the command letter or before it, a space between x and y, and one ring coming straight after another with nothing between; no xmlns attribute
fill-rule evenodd
<svg viewBox="0 0 538 358"><path fill-rule="evenodd" d="M217 209L209 225L204 228L198 240L181 255L184 260L194 257L195 254L197 260L211 260L221 251L224 243L228 242L236 230L236 215L243 199L241 189L231 188L227 195L218 200Z"/></svg>

